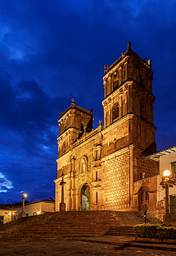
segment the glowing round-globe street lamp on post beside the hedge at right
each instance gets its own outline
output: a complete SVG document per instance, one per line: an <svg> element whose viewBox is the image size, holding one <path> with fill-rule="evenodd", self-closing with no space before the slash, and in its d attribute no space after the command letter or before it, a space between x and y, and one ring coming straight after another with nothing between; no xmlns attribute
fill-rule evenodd
<svg viewBox="0 0 176 256"><path fill-rule="evenodd" d="M166 170L164 172L165 179L164 181L160 182L159 185L162 185L163 188L166 189L166 213L163 216L163 222L164 225L168 226L169 223L172 221L172 215L169 213L169 192L168 188L172 187L172 185L175 183L173 179L170 179L170 171Z"/></svg>

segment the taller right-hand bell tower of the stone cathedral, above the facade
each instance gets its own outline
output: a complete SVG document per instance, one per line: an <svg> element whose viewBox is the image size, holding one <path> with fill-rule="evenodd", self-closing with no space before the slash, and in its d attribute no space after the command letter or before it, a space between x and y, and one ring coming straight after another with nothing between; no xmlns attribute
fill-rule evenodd
<svg viewBox="0 0 176 256"><path fill-rule="evenodd" d="M151 68L151 60L139 57L130 42L116 62L105 65L104 127L120 124L116 149L134 144L146 154L156 151Z"/></svg>

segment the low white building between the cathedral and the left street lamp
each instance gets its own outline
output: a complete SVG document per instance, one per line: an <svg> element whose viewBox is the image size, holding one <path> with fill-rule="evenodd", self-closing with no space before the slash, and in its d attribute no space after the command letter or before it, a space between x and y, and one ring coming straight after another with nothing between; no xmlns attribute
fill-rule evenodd
<svg viewBox="0 0 176 256"><path fill-rule="evenodd" d="M14 218L21 217L22 205L14 207L17 210ZM55 212L55 200L45 199L25 204L26 216L39 215L46 212Z"/></svg>

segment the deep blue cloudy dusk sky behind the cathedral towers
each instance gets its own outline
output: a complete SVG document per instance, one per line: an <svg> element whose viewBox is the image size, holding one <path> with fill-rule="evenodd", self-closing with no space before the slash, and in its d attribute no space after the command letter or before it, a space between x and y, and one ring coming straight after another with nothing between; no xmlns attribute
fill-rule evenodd
<svg viewBox="0 0 176 256"><path fill-rule="evenodd" d="M157 150L176 145L176 1L0 0L0 203L55 198L59 111L103 120L104 64L151 59Z"/></svg>

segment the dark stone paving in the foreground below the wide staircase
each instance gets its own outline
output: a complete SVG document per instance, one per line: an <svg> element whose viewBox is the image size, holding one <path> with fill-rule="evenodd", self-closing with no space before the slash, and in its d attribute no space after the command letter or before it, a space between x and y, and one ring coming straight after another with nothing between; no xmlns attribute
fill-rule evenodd
<svg viewBox="0 0 176 256"><path fill-rule="evenodd" d="M73 240L75 239L75 240ZM55 241L0 241L0 255L21 256L75 256L75 255L130 255L174 256L175 244L148 244L135 242L135 237L85 237ZM81 241L80 241L81 240ZM158 246L158 247L156 247ZM162 248L162 250L161 250ZM172 251L175 249L175 251Z"/></svg>

